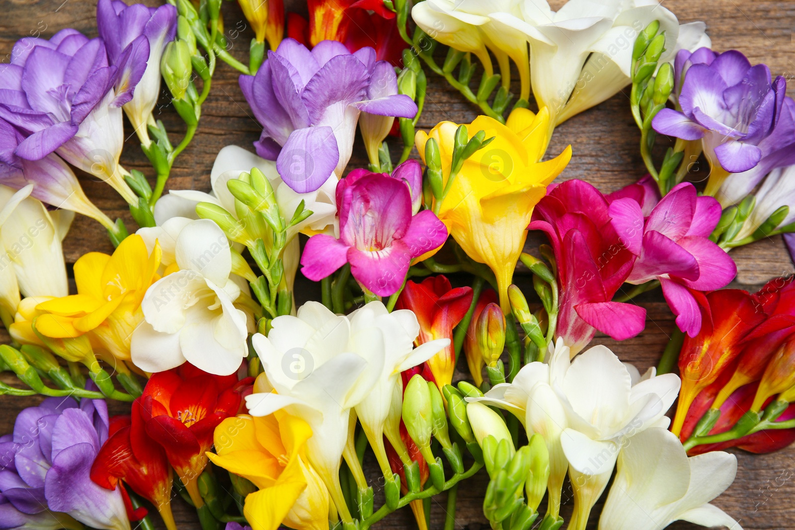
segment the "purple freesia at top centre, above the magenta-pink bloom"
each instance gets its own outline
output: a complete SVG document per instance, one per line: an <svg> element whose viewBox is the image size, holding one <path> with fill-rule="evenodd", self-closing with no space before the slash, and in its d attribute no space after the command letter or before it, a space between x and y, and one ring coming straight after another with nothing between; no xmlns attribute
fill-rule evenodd
<svg viewBox="0 0 795 530"><path fill-rule="evenodd" d="M394 68L375 60L373 48L351 53L337 41L321 41L310 52L285 39L257 75L239 82L262 125L257 154L275 160L282 180L299 193L320 188L332 172L342 176L361 111L417 114L417 104L397 94Z"/></svg>

